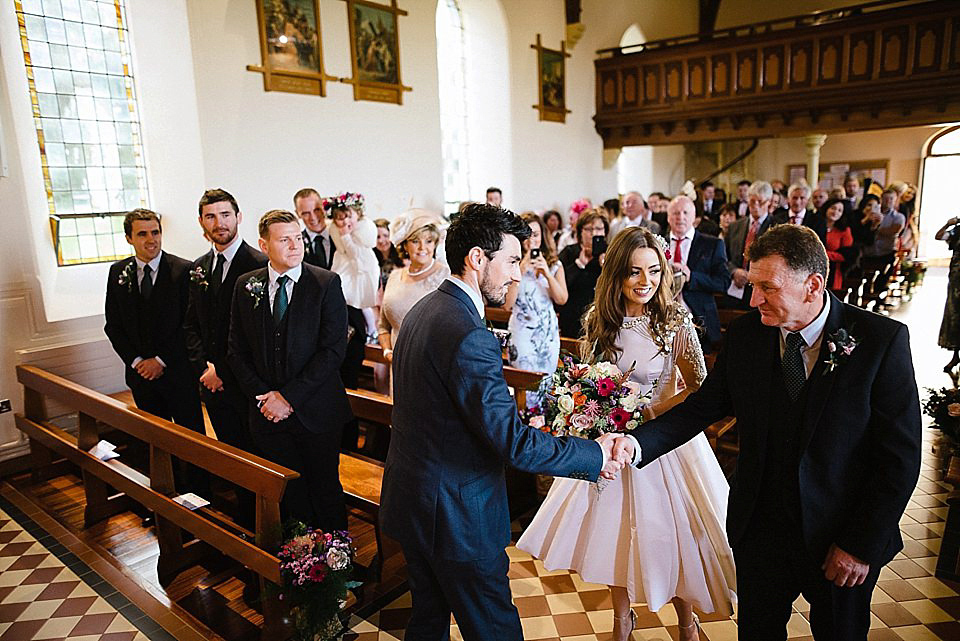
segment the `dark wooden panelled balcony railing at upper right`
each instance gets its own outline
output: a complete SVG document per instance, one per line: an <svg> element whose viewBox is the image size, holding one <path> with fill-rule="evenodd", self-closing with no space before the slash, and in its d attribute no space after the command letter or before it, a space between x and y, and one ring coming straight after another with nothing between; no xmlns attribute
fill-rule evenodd
<svg viewBox="0 0 960 641"><path fill-rule="evenodd" d="M605 49L608 148L937 124L960 117L960 2L871 2Z"/></svg>

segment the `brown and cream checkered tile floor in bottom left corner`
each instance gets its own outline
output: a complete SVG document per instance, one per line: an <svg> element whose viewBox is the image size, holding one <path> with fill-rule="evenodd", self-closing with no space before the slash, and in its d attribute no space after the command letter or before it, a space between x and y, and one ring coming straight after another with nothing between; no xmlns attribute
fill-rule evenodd
<svg viewBox="0 0 960 641"><path fill-rule="evenodd" d="M128 603L125 599L123 602ZM147 638L60 558L0 510L0 641Z"/></svg>

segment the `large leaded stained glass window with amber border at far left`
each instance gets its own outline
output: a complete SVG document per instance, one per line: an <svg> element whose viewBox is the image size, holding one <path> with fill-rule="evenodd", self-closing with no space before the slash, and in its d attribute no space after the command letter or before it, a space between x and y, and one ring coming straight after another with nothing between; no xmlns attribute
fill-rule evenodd
<svg viewBox="0 0 960 641"><path fill-rule="evenodd" d="M123 0L14 0L60 265L130 255L147 205Z"/></svg>

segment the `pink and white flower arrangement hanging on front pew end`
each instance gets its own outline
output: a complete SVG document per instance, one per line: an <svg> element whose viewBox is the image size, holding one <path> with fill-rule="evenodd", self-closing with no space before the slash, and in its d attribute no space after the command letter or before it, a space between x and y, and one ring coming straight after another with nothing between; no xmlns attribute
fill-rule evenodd
<svg viewBox="0 0 960 641"><path fill-rule="evenodd" d="M301 639L335 639L343 630L338 614L350 580L353 548L346 532L321 532L303 523L292 526L280 547L280 599L290 604Z"/></svg>

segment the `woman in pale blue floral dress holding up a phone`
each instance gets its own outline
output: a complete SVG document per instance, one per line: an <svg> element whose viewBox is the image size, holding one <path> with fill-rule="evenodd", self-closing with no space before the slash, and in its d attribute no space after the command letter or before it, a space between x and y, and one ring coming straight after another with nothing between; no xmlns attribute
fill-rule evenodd
<svg viewBox="0 0 960 641"><path fill-rule="evenodd" d="M567 302L567 282L547 226L536 214L520 218L530 226L530 238L523 242L520 282L510 286L504 304L510 311L510 365L549 377L560 358L560 328L554 305ZM530 407L541 400L541 394L527 395Z"/></svg>

